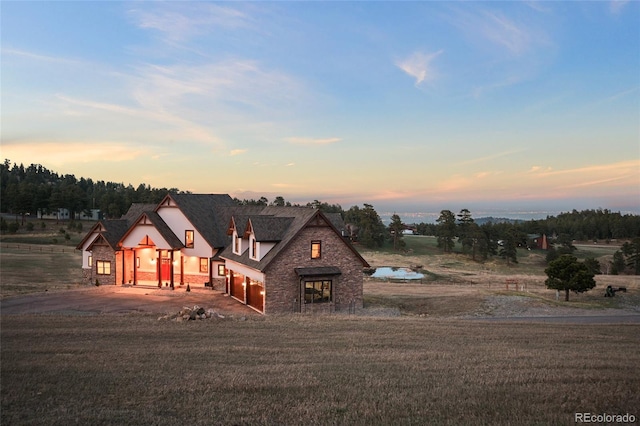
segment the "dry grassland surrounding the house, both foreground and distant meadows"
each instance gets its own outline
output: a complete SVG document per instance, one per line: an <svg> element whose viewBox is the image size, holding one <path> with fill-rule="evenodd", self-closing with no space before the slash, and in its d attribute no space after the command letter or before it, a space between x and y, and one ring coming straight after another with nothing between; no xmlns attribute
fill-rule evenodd
<svg viewBox="0 0 640 426"><path fill-rule="evenodd" d="M482 319L637 313L637 277L598 276L566 303L544 288L540 254L476 263L420 238L403 254L364 252L426 277L367 278L361 315L2 315L0 424L574 424L577 412L637 422L640 325ZM45 253L3 244L3 297L77 285L79 254ZM629 292L604 298L608 283Z"/></svg>

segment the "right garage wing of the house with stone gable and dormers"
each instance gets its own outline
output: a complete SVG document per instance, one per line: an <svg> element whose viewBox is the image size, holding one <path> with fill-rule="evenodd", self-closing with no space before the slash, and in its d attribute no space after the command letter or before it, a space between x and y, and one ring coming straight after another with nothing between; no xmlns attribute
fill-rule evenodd
<svg viewBox="0 0 640 426"><path fill-rule="evenodd" d="M312 208L232 215L231 243L220 255L225 291L263 313L362 308L362 271L369 265L340 228L335 216Z"/></svg>

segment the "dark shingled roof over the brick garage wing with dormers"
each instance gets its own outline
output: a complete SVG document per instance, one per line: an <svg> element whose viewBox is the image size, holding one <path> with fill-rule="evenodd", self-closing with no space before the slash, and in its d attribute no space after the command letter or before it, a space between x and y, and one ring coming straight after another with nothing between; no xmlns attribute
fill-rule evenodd
<svg viewBox="0 0 640 426"><path fill-rule="evenodd" d="M247 265L253 269L264 271L269 264L279 256L279 254L287 247L287 245L314 219L319 219L328 224L333 231L341 238L343 243L358 257L363 266L368 266L366 260L358 253L358 251L351 245L351 243L342 238L340 231L338 231L333 223L320 211L308 207L278 207L268 206L263 207L260 211L260 215L263 219L255 217L255 215L249 215L248 222L252 224L253 231L258 235L264 232L265 235L273 234L271 237L277 236L276 240L263 240L263 241L276 241L277 244L269 250L269 252L260 260L256 261L249 258L249 250L245 250L242 255L233 253L232 247L229 245L220 254L220 257L233 260L244 265ZM235 216L234 216L235 218ZM283 220L286 219L286 220ZM233 223L233 222L232 222ZM238 220L235 220L236 226L238 226ZM274 230L265 229L259 230L258 227L268 227L269 225L277 225ZM260 241L258 239L258 241Z"/></svg>

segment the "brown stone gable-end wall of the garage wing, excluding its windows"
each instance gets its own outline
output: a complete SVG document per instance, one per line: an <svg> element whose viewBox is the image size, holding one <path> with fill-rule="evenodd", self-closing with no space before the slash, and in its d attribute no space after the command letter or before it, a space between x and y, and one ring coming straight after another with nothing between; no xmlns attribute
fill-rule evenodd
<svg viewBox="0 0 640 426"><path fill-rule="evenodd" d="M321 257L311 258L311 242L321 242ZM330 279L333 301L305 305L301 301L303 282L294 268L336 266L341 274L313 279ZM273 260L265 271L265 314L285 312L339 312L363 304L362 262L345 241L328 226L307 226Z"/></svg>

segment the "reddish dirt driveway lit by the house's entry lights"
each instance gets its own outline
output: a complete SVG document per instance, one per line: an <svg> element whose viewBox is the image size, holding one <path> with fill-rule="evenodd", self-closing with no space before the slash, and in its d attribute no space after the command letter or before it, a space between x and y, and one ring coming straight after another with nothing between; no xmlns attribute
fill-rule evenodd
<svg viewBox="0 0 640 426"><path fill-rule="evenodd" d="M198 305L227 316L259 316L253 309L211 289L175 290L154 287L100 286L14 296L0 301L2 315L178 312Z"/></svg>

